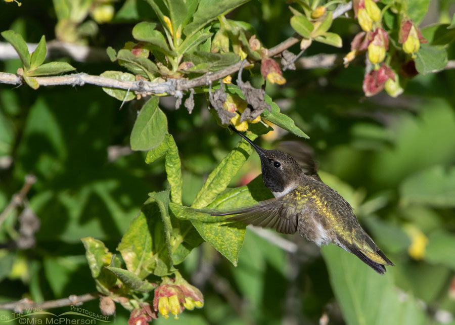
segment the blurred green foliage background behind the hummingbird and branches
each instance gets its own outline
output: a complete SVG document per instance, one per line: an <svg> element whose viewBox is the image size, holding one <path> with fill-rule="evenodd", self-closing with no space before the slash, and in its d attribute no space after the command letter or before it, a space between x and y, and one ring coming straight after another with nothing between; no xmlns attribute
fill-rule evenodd
<svg viewBox="0 0 455 325"><path fill-rule="evenodd" d="M422 26L451 17L453 4L431 2ZM131 40L136 21L154 19L142 0L114 6L113 20L99 24L99 31L86 38L88 44L121 48ZM42 34L55 38L51 1L23 1L22 7L2 2L0 12L2 31L14 29L28 42ZM263 0L239 7L230 18L251 23L265 47L272 47L292 35L290 16L285 2ZM337 19L332 28L343 37L343 49L315 43L306 56L349 52L357 23ZM296 53L298 47L291 50ZM448 53L449 60L455 58L453 44ZM69 62L88 74L119 69L109 61ZM15 73L18 67L19 60L0 62L3 72ZM362 60L348 68L288 70L285 85L267 85L266 91L310 136L305 142L316 152L321 177L351 203L395 267L381 277L337 247L321 253L298 235L285 236L298 245L297 253L290 254L247 230L237 267L206 243L179 267L203 292L203 309L154 322L455 324L455 71L419 75L396 99L384 92L363 96L363 73ZM253 83L260 78L253 70ZM196 97L191 115L173 106L169 98L160 102L183 164L183 201L190 204L238 137L217 126L204 97ZM166 188L163 159L146 165L145 153L128 151L141 103L119 107L92 85L37 91L0 85L0 211L25 175L33 173L37 181L27 195L28 213L40 222L31 236L34 242L22 247L27 229L20 227L27 224L21 217L28 210L14 210L0 228L0 303L95 292L80 238L100 239L114 252L147 194ZM296 140L276 132L257 142L272 148L290 139ZM259 173L254 155L232 185ZM98 301L82 307L99 310ZM118 305L110 319L124 324L128 315Z"/></svg>

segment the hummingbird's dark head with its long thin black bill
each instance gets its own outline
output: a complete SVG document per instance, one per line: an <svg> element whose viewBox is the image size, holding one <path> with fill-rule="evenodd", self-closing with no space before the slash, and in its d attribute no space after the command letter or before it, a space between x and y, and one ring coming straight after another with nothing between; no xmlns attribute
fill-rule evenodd
<svg viewBox="0 0 455 325"><path fill-rule="evenodd" d="M283 196L296 187L296 180L303 174L299 164L280 150L266 150L239 133L256 150L261 159L262 180L275 197Z"/></svg>

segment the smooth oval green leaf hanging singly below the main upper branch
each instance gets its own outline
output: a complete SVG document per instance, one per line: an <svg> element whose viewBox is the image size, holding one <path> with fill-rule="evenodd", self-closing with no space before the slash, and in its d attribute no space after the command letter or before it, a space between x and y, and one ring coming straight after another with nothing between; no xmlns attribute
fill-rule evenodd
<svg viewBox="0 0 455 325"><path fill-rule="evenodd" d="M150 150L163 141L167 132L167 118L158 107L158 102L158 97L152 97L139 112L130 136L132 150Z"/></svg>

